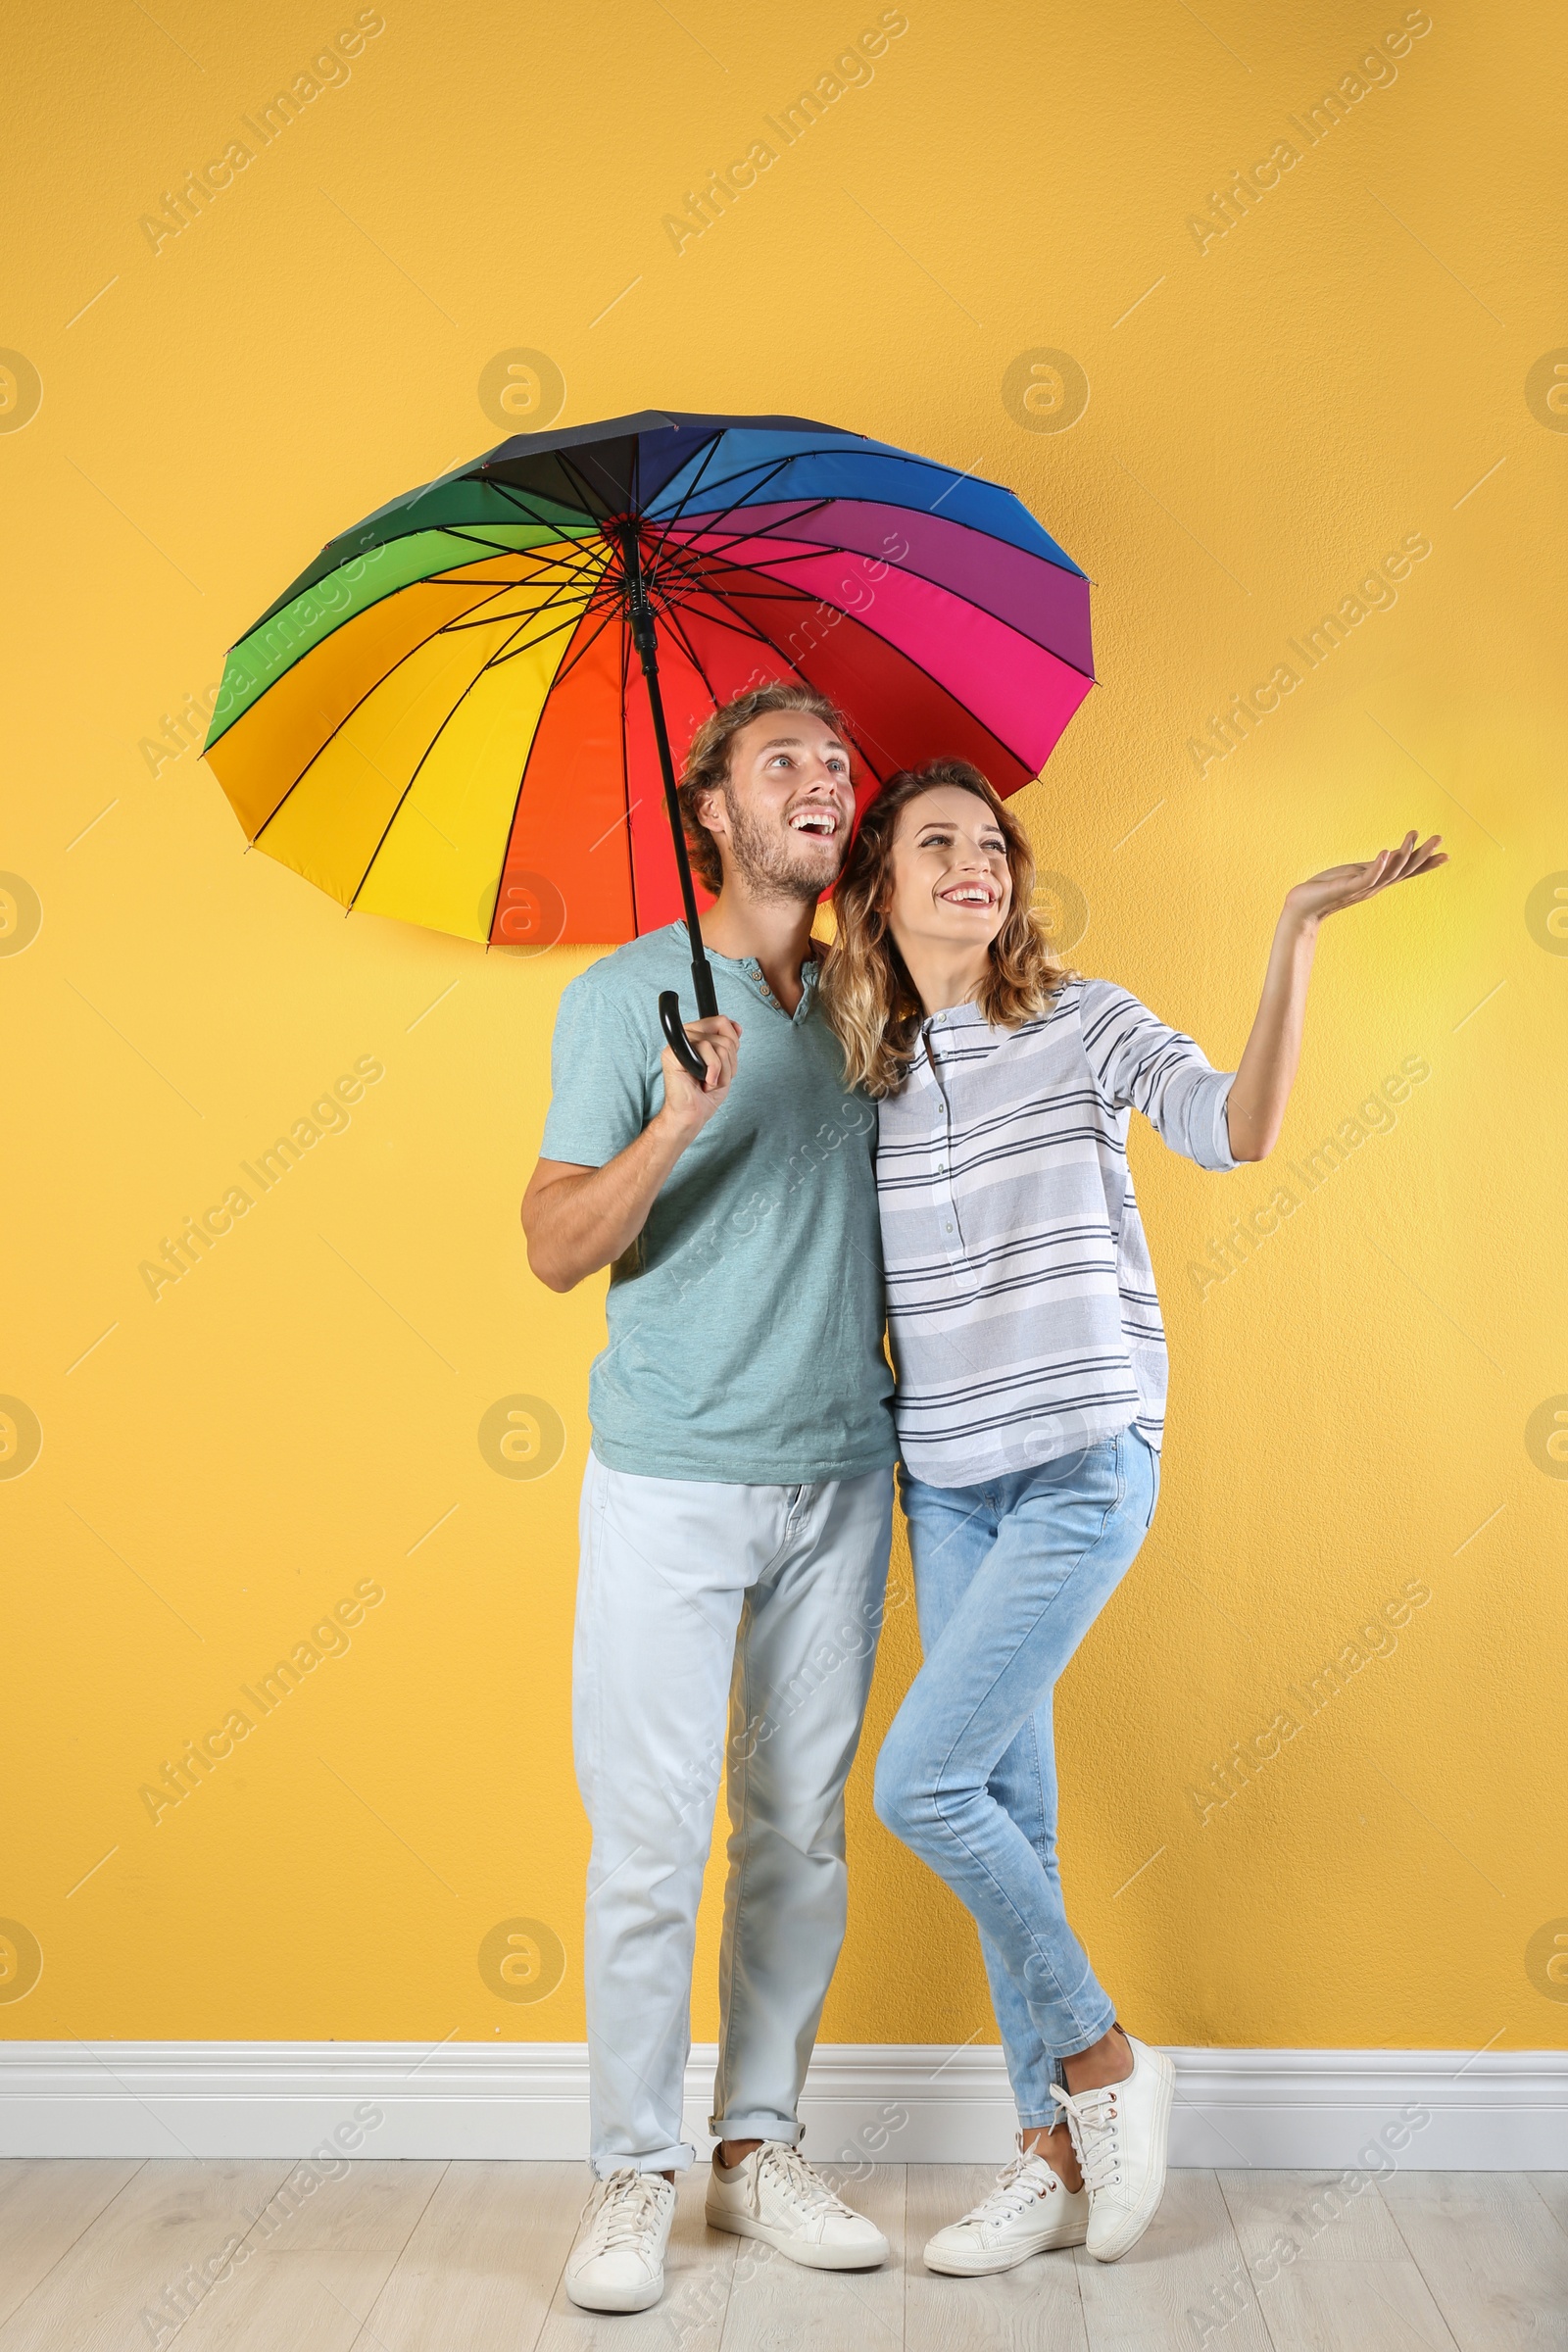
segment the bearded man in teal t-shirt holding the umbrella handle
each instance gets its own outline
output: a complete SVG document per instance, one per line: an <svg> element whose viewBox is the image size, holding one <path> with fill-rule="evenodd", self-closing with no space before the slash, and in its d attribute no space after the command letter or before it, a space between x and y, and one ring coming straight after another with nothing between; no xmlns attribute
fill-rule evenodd
<svg viewBox="0 0 1568 2352"><path fill-rule="evenodd" d="M797 2103L844 1938L844 1780L891 1536L875 1110L816 1009L811 917L849 851L832 706L769 684L717 710L682 781L719 1014L708 1080L663 1049L684 924L562 995L529 1263L611 1268L590 1378L574 1755L592 1823L585 1978L592 2169L567 2263L585 2310L663 2291L691 1955L719 1764L729 1879L708 2220L818 2270L886 2260L799 2154ZM729 1705L729 1738L726 1738Z"/></svg>

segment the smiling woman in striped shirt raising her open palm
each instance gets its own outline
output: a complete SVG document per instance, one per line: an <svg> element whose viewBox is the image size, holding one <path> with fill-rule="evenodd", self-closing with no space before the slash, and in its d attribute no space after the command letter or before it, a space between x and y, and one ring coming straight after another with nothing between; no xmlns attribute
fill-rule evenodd
<svg viewBox="0 0 1568 2352"><path fill-rule="evenodd" d="M1117 2023L1063 1910L1051 1693L1159 1496L1166 1341L1128 1112L1204 1169L1262 1160L1300 1058L1319 922L1446 863L1410 833L1286 894L1253 1033L1211 1070L1112 981L1051 962L1034 861L985 776L872 800L823 1002L879 1098L877 1195L924 1665L877 1813L973 1912L1018 2157L926 2246L947 2272L1048 2246L1114 2263L1166 2178L1173 2067Z"/></svg>

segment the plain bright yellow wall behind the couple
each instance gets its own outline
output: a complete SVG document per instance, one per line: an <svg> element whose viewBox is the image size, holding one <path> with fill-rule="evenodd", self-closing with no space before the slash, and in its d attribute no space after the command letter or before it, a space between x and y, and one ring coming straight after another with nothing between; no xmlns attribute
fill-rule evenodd
<svg viewBox="0 0 1568 2352"><path fill-rule="evenodd" d="M1215 1063L1293 880L1446 835L1441 877L1324 936L1279 1160L1420 1058L1392 1129L1204 1294L1187 1265L1281 1178L1133 1143L1171 1435L1154 1536L1060 1696L1065 1875L1150 2037L1563 2039L1559 19L910 0L875 78L677 252L663 216L877 19L386 0L348 82L158 249L141 216L353 5L12 21L0 343L42 407L7 360L0 868L42 929L21 894L0 938L0 1390L42 1454L0 1479L0 1915L26 1931L0 1992L26 1936L42 1978L0 2002L9 2034L583 2032L599 1284L531 1282L517 1195L592 950L346 922L242 854L193 750L141 748L331 532L501 437L477 386L531 348L564 421L788 409L1018 487L1098 581L1103 680L1023 814L1084 901L1084 969ZM1293 129L1427 21L1316 143ZM1281 139L1300 160L1194 230ZM1041 350L1088 386L1063 430ZM1211 713L1408 534L1429 555L1396 602L1201 762ZM353 1124L153 1301L139 1263L367 1058ZM517 1395L564 1425L538 1479L480 1444ZM364 1581L348 1653L153 1823L139 1788ZM1408 1581L1429 1599L1392 1656L1201 1820L1213 1762ZM990 2039L971 1929L867 1788L865 1757L825 2032ZM480 1966L515 1919L564 1947L555 1990L548 1952L515 1985L536 1999L491 1990L494 1940Z"/></svg>

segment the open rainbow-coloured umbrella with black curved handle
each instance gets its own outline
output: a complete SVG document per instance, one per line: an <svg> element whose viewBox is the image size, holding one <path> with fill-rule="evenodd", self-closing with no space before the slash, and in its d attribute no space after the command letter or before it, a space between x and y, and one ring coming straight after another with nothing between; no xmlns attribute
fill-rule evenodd
<svg viewBox="0 0 1568 2352"><path fill-rule="evenodd" d="M710 1014L670 736L780 677L844 710L860 804L938 753L1016 793L1093 682L1088 581L1001 485L799 416L520 433L322 548L205 755L346 908L498 946L684 913Z"/></svg>

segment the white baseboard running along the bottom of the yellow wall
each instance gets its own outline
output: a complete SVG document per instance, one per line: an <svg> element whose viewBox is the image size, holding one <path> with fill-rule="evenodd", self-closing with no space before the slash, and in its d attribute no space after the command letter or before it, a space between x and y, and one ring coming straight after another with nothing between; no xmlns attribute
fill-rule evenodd
<svg viewBox="0 0 1568 2352"><path fill-rule="evenodd" d="M1568 2051L1173 2049L1173 2164L1568 2171ZM712 2046L686 2136L708 2150ZM353 2112L362 2157L585 2157L581 2042L5 2042L0 2157L303 2157ZM1425 2117L1425 2122L1418 2122ZM999 2164L994 2044L820 2044L816 2161ZM1375 2154L1375 2145L1389 2150Z"/></svg>

